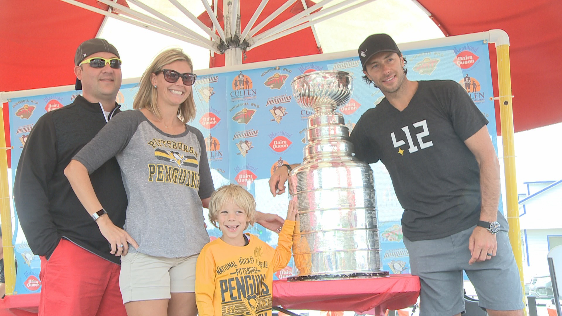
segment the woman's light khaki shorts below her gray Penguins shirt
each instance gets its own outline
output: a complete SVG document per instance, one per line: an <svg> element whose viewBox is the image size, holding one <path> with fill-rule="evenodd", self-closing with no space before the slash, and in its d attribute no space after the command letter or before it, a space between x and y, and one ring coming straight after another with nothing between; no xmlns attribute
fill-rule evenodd
<svg viewBox="0 0 562 316"><path fill-rule="evenodd" d="M121 256L119 286L123 304L170 299L170 293L195 292L197 256L164 258L140 252Z"/></svg>

